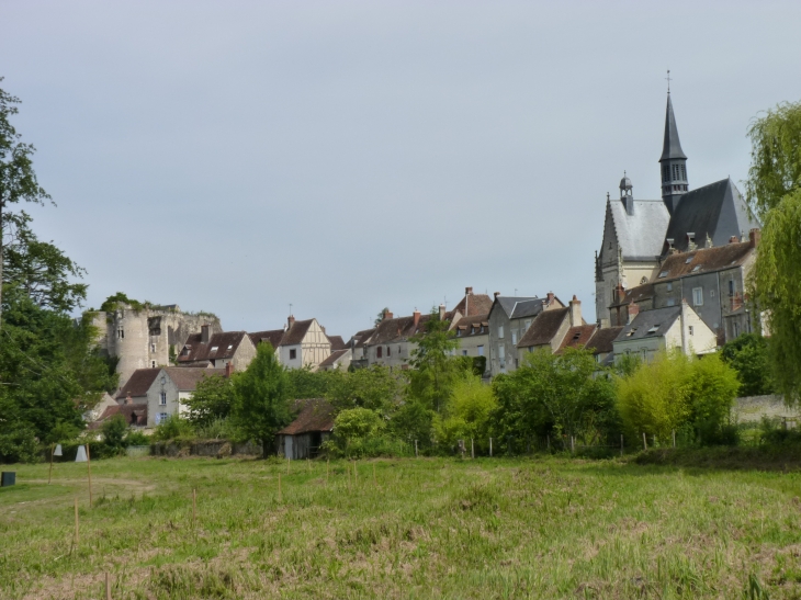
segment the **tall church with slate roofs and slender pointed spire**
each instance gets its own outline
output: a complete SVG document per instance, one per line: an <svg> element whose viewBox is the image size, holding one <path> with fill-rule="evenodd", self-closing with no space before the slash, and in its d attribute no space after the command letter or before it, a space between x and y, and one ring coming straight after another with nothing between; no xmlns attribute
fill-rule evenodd
<svg viewBox="0 0 801 600"><path fill-rule="evenodd" d="M730 179L690 189L670 92L659 158L662 200L638 200L631 180L620 181L620 199L607 194L603 241L595 258L596 318L612 322L611 306L621 290L654 281L668 254L746 240L758 228Z"/></svg>

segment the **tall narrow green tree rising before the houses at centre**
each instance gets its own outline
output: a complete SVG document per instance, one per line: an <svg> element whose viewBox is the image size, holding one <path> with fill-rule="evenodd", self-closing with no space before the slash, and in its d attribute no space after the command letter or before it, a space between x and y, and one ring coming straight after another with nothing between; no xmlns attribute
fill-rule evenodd
<svg viewBox="0 0 801 600"><path fill-rule="evenodd" d="M437 412L444 407L455 378L464 369L464 363L451 355L451 351L459 348L459 340L449 327L450 321L440 319L435 307L425 321L424 331L410 338L417 348L411 351L409 361L414 371L409 373L408 395Z"/></svg>

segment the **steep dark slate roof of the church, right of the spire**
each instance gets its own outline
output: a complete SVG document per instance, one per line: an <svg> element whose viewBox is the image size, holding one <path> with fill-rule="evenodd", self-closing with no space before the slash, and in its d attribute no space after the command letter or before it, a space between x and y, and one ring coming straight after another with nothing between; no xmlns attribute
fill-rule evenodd
<svg viewBox="0 0 801 600"><path fill-rule="evenodd" d="M714 246L725 246L731 236L740 237L758 227L759 223L751 217L736 185L727 178L682 194L667 233L659 241L673 238L674 247L686 251L687 234L692 233L699 247L706 244L707 236Z"/></svg>

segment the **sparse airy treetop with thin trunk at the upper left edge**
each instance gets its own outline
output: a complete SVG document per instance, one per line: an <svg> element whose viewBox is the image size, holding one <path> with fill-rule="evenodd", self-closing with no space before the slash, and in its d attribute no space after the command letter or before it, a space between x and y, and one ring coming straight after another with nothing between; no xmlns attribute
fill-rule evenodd
<svg viewBox="0 0 801 600"><path fill-rule="evenodd" d="M3 78L0 78L2 82ZM50 196L38 184L33 170L32 156L35 148L20 141L21 135L9 117L18 113L15 104L20 99L0 89L0 281L5 282L5 238L25 227L30 217L24 213L12 213L9 207L20 202L44 204ZM0 321L2 320L2 288L0 287ZM0 327L2 327L0 322Z"/></svg>

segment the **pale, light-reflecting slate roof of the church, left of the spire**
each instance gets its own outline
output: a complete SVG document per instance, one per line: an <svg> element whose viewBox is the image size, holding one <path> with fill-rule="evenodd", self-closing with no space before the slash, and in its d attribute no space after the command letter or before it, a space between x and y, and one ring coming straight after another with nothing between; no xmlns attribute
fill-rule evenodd
<svg viewBox="0 0 801 600"><path fill-rule="evenodd" d="M609 200L607 204L612 213L612 225L623 259L655 260L662 256L665 246L665 231L670 222L670 213L661 200L633 202L634 212L631 215L625 212L625 206L619 200Z"/></svg>

